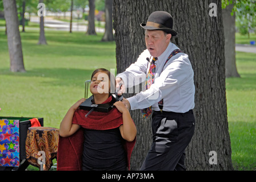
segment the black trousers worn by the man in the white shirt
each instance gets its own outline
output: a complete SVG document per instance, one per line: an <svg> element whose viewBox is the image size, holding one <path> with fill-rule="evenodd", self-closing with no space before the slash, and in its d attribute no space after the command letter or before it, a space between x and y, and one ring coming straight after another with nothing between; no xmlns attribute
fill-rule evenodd
<svg viewBox="0 0 256 182"><path fill-rule="evenodd" d="M153 144L141 170L186 170L185 149L193 137L194 129L193 110L187 113L153 111Z"/></svg>

